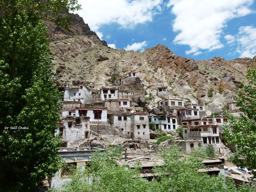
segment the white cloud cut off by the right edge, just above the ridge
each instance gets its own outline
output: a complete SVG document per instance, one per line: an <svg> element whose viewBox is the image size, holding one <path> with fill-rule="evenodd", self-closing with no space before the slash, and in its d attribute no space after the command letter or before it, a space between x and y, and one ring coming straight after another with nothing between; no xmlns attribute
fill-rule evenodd
<svg viewBox="0 0 256 192"><path fill-rule="evenodd" d="M240 57L253 58L256 55L256 28L252 26L243 26L235 35L237 42L237 53Z"/></svg>

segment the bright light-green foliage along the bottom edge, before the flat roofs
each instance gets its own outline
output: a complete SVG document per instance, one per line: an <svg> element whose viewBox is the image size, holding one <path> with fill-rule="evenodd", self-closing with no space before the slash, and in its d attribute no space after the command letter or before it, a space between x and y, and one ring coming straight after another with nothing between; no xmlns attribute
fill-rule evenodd
<svg viewBox="0 0 256 192"><path fill-rule="evenodd" d="M235 187L234 182L221 176L209 176L198 172L204 168L202 160L205 158L203 149L193 151L189 156L180 159L181 151L176 145L161 151L163 166L154 168L155 177L152 181L139 178L141 164L137 162L135 169L127 169L127 165L119 165L116 160L120 158L113 150L106 153L96 152L92 155L90 167L85 171L78 170L71 182L67 182L62 189L52 189L54 192L251 192L253 188L242 185ZM85 181L91 179L92 184Z"/></svg>

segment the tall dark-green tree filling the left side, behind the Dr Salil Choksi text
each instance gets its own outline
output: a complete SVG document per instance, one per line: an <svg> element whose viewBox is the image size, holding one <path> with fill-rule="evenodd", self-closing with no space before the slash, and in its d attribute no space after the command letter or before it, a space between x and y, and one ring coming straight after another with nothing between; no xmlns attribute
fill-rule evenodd
<svg viewBox="0 0 256 192"><path fill-rule="evenodd" d="M0 1L0 191L34 191L58 169L61 94L42 19L67 28L62 8L78 7L75 0Z"/></svg>

